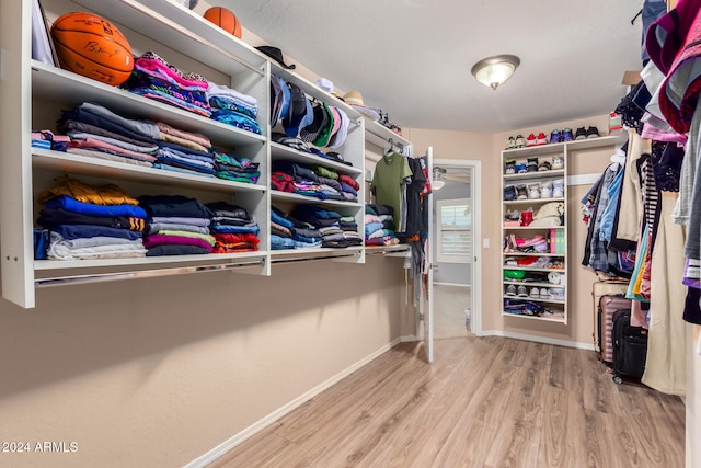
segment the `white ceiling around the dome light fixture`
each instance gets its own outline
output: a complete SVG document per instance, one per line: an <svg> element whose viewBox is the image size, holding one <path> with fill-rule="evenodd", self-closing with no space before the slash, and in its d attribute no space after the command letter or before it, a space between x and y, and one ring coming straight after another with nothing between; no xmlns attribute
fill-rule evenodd
<svg viewBox="0 0 701 468"><path fill-rule="evenodd" d="M642 0L219 0L243 26L403 127L508 132L612 111ZM244 36L245 38L245 36ZM521 65L496 91L481 58Z"/></svg>

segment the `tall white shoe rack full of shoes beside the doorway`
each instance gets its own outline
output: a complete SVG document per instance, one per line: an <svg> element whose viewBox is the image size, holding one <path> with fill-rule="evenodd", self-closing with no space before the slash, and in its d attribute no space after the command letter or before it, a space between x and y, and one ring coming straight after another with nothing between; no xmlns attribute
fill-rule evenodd
<svg viewBox="0 0 701 468"><path fill-rule="evenodd" d="M504 316L567 323L567 161L617 140L593 126L509 138L502 151Z"/></svg>

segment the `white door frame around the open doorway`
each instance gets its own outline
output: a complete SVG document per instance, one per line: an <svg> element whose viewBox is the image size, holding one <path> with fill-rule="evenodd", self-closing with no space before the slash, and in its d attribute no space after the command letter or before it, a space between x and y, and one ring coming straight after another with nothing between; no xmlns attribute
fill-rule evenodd
<svg viewBox="0 0 701 468"><path fill-rule="evenodd" d="M482 161L472 159L434 159L433 165L441 168L460 168L472 169L471 197L472 197L472 284L470 299L471 320L470 331L482 336ZM435 209L436 201L432 197L430 209ZM432 237L436 239L436 232L432 226ZM429 277L430 289L433 293L433 275ZM433 294L432 294L433 295ZM429 316L433 318L433 300L429 301ZM432 330L433 332L433 330ZM433 336L432 336L433 338Z"/></svg>

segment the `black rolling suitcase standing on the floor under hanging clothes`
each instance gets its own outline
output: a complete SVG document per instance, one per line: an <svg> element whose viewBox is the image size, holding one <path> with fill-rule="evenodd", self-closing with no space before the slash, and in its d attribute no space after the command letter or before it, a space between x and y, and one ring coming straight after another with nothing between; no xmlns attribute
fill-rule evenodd
<svg viewBox="0 0 701 468"><path fill-rule="evenodd" d="M623 377L640 380L645 372L647 358L647 330L631 326L631 310L613 313L613 381L621 384Z"/></svg>

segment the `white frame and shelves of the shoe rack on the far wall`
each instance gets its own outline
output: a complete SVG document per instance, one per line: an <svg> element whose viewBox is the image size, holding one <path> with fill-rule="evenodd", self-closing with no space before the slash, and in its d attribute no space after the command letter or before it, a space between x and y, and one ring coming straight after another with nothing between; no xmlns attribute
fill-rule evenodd
<svg viewBox="0 0 701 468"><path fill-rule="evenodd" d="M506 252L502 249L502 283L503 283L503 299L504 308L502 315L505 317L526 318L532 320L543 320L551 322L559 322L566 324L568 321L567 310L567 295L568 295L568 275L567 270L570 263L567 261L567 175L568 175L568 161L579 151L590 148L601 148L611 146L613 147L618 141L618 137L608 136L591 138L585 140L566 141L561 144L541 145L535 147L517 148L502 151L503 163L503 176L502 176L502 193L504 189L513 185L515 187L522 185L528 194L529 184L542 184L549 183L555 180L563 181L563 195L562 197L550 198L526 198L526 199L503 199L502 202L502 219L505 219L507 210L519 210L522 213L526 209L532 208L533 214L538 212L540 207L548 203L558 202L564 208L564 221L559 227L535 227L535 226L505 226L502 227L503 238L508 236L515 236L522 239L531 239L535 236L542 236L550 242L551 229L556 236L563 238L560 243L560 250L556 253L551 253L550 243L549 249L545 252L522 252L516 250L515 252ZM527 164L529 158L537 158L540 163L543 160L552 162L553 157L561 157L563 160L563 168L548 171L536 171L516 174L505 174L504 163L508 160L514 160L516 163ZM506 264L507 259L518 261L524 259L526 261L532 261L533 259L543 259L544 262L559 262L562 267L539 267L539 266L508 266ZM510 271L512 274L507 275L505 272ZM547 275L549 273L558 273L561 277L560 284L553 284L548 281ZM515 278L507 278L507 276L516 276ZM514 286L517 288L525 288L527 292L526 297L519 297L516 295L507 295L507 288ZM545 298L540 297L540 293L537 297L531 297L530 292L533 288L556 290L563 289L562 295L558 297L564 297L564 299L554 298L553 295ZM510 306L510 307L507 307Z"/></svg>

